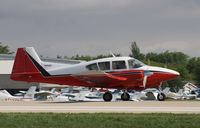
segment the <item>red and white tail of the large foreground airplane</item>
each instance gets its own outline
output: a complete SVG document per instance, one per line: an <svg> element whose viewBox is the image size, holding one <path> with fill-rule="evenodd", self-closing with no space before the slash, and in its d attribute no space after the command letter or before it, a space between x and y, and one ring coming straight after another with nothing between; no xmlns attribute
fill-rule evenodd
<svg viewBox="0 0 200 128"><path fill-rule="evenodd" d="M42 61L34 48L18 48L10 78L16 81L37 82L50 74L41 66Z"/></svg>

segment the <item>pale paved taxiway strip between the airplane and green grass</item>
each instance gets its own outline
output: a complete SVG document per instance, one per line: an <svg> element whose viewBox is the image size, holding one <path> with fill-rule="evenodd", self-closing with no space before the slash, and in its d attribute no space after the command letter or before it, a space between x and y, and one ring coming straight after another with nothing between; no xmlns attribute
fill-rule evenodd
<svg viewBox="0 0 200 128"><path fill-rule="evenodd" d="M200 101L73 102L38 101L0 102L0 112L123 112L123 113L200 113Z"/></svg>

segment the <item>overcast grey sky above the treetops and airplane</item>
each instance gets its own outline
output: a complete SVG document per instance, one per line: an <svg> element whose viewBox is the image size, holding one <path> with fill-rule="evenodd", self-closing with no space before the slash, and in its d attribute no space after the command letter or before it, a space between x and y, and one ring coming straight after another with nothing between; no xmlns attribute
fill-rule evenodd
<svg viewBox="0 0 200 128"><path fill-rule="evenodd" d="M181 51L200 56L199 0L0 0L0 42L43 56Z"/></svg>

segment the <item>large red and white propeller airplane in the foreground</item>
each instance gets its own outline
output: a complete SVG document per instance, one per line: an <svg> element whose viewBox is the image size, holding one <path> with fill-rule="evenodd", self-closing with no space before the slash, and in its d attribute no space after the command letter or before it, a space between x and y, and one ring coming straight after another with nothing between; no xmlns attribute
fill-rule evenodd
<svg viewBox="0 0 200 128"><path fill-rule="evenodd" d="M122 89L121 99L130 99L127 90L159 87L162 82L175 79L176 71L143 64L131 57L111 57L78 64L55 66L41 61L34 48L19 48L11 79L25 82L52 83L71 86ZM164 100L163 93L158 100ZM104 101L112 100L112 93L103 95Z"/></svg>

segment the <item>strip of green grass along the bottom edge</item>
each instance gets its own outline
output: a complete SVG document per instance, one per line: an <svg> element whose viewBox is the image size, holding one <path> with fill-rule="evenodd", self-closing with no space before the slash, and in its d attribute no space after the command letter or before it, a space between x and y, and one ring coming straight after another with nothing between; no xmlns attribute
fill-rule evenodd
<svg viewBox="0 0 200 128"><path fill-rule="evenodd" d="M0 128L200 128L200 114L0 113Z"/></svg>

